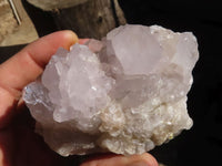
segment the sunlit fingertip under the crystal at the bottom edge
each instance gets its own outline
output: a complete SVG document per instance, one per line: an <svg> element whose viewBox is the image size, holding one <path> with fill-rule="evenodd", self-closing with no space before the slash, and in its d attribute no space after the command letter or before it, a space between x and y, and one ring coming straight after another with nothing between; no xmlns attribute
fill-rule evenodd
<svg viewBox="0 0 222 166"><path fill-rule="evenodd" d="M158 166L158 162L148 153L142 155L102 155L87 160L81 166Z"/></svg>

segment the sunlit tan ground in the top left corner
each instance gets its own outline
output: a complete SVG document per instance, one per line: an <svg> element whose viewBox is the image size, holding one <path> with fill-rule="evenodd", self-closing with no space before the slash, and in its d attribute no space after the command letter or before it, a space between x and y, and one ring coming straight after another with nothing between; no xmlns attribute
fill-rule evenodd
<svg viewBox="0 0 222 166"><path fill-rule="evenodd" d="M21 24L14 18L7 0L0 0L0 46L30 43L38 39L33 23L24 11L20 0L14 6L21 19Z"/></svg>

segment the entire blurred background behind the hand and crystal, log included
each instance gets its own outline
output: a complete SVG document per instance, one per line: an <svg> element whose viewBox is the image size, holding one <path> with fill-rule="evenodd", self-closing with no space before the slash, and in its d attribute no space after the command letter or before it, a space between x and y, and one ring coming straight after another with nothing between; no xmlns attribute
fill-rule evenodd
<svg viewBox="0 0 222 166"><path fill-rule="evenodd" d="M29 1L29 2L28 2ZM222 165L222 6L211 0L0 0L0 63L27 43L71 29L80 38L97 38L124 24L159 24L192 31L200 60L188 110L190 131L150 153L165 166ZM57 1L57 0L54 0Z"/></svg>

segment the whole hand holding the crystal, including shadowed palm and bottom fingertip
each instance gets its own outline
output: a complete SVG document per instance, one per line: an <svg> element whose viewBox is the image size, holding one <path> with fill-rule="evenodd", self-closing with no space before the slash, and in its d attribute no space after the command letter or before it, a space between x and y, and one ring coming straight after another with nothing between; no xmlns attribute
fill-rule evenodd
<svg viewBox="0 0 222 166"><path fill-rule="evenodd" d="M0 65L0 166L57 166L68 165L69 157L52 152L34 131L31 118L21 100L22 89L43 71L57 49L78 42L71 31L60 31L29 44ZM83 40L79 40L79 43ZM158 166L149 154L125 157L100 155L81 166ZM142 165L143 164L143 165Z"/></svg>

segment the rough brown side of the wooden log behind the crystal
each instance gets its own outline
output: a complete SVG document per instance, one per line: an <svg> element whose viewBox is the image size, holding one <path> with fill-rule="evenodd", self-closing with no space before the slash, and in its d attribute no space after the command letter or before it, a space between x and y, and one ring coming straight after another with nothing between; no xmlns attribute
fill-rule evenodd
<svg viewBox="0 0 222 166"><path fill-rule="evenodd" d="M85 3L52 12L59 30L73 30L80 38L101 39L125 23L118 0L89 0Z"/></svg>

